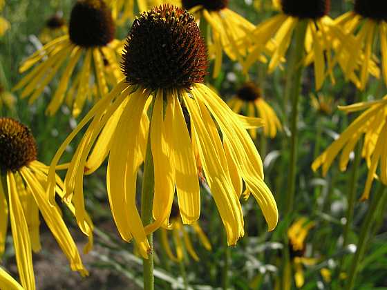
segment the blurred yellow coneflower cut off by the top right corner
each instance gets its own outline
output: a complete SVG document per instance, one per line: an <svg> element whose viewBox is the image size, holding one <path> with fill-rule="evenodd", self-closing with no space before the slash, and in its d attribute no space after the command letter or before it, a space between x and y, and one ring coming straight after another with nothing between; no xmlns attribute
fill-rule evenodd
<svg viewBox="0 0 387 290"><path fill-rule="evenodd" d="M379 77L375 68L374 43L379 39L381 52L381 67L384 82L387 84L387 10L376 0L355 0L353 11L346 12L335 19L337 26L343 28L343 34L338 34L346 52L346 66L343 68L346 75L351 75L360 65L359 89L364 90L370 74ZM355 37L354 37L355 35ZM379 35L379 37L378 37ZM353 61L359 59L359 61ZM375 71L376 70L376 71Z"/></svg>

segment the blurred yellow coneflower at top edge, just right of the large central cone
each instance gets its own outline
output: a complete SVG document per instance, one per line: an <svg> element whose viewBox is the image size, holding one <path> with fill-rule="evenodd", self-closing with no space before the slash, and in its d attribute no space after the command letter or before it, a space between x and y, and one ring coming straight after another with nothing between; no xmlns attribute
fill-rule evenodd
<svg viewBox="0 0 387 290"><path fill-rule="evenodd" d="M242 63L247 48L238 45L240 39L248 37L254 30L254 24L238 13L227 8L228 0L182 0L182 8L195 12L201 21L206 21L211 28L209 35L209 55L214 57L214 77L219 75L223 50L233 61ZM263 59L264 61L264 59Z"/></svg>

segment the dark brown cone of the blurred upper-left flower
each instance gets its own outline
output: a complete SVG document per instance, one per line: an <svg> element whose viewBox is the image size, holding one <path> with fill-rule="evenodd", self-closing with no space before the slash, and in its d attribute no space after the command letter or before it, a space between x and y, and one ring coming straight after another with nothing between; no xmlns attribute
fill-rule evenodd
<svg viewBox="0 0 387 290"><path fill-rule="evenodd" d="M114 39L111 10L102 0L79 0L71 10L68 33L78 46L106 46Z"/></svg>

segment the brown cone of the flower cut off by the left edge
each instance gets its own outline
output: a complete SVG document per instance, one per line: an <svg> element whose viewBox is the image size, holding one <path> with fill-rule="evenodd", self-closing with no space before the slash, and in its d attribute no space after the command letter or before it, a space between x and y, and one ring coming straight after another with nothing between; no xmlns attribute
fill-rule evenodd
<svg viewBox="0 0 387 290"><path fill-rule="evenodd" d="M30 129L15 119L0 117L0 168L18 171L37 159L37 146Z"/></svg>

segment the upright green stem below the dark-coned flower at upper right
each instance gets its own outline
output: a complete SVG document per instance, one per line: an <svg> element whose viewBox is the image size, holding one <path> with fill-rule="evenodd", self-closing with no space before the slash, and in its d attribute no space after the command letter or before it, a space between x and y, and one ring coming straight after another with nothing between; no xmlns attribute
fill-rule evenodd
<svg viewBox="0 0 387 290"><path fill-rule="evenodd" d="M301 75L303 72L303 57L304 57L304 43L306 28L308 26L307 20L300 20L295 29L295 40L292 47L289 71L287 75L287 88L285 93L289 94L292 99L292 114L290 116L290 172L287 182L287 202L285 208L285 215L288 215L293 210L294 192L296 189L296 160L297 160L297 142L298 142L298 128L297 119L299 115L299 97L301 93Z"/></svg>

